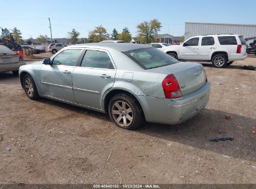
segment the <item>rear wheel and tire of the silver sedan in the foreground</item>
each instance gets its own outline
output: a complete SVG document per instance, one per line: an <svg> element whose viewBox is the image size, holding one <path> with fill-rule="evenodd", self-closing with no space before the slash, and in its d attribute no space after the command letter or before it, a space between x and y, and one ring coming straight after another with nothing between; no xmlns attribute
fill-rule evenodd
<svg viewBox="0 0 256 189"><path fill-rule="evenodd" d="M128 94L116 94L108 104L108 114L116 126L135 130L145 122L143 111L138 101Z"/></svg>

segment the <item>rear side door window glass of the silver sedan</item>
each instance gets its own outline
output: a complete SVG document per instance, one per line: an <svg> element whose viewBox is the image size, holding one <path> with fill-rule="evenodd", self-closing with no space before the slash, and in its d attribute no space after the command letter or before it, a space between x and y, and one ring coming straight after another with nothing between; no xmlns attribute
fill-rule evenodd
<svg viewBox="0 0 256 189"><path fill-rule="evenodd" d="M113 69L107 52L87 50L83 57L81 67Z"/></svg>

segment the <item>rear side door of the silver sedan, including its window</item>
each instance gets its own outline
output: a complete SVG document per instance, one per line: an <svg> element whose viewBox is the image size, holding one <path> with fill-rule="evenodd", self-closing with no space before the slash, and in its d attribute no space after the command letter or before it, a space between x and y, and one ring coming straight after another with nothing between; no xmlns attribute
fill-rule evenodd
<svg viewBox="0 0 256 189"><path fill-rule="evenodd" d="M73 70L73 93L78 104L102 108L102 95L115 82L116 69L106 50L87 49L80 67Z"/></svg>

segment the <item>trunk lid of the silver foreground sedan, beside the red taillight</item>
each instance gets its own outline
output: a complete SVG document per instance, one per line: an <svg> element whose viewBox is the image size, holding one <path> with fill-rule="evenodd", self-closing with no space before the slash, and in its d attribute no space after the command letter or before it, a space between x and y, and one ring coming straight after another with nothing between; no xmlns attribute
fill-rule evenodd
<svg viewBox="0 0 256 189"><path fill-rule="evenodd" d="M183 96L199 90L206 83L206 75L199 63L179 62L165 67L153 68L150 71L165 75L172 73L178 80Z"/></svg>

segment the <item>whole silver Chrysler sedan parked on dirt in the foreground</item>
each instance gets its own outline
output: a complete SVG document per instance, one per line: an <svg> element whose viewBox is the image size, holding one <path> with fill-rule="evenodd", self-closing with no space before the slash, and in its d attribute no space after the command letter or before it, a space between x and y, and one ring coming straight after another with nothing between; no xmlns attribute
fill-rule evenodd
<svg viewBox="0 0 256 189"><path fill-rule="evenodd" d="M210 94L201 64L138 44L72 45L44 62L22 66L19 78L31 99L108 113L125 129L138 129L144 121L184 122L206 106Z"/></svg>

